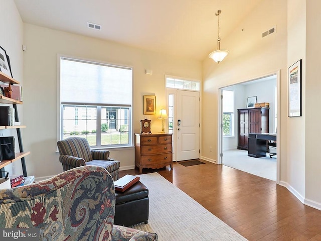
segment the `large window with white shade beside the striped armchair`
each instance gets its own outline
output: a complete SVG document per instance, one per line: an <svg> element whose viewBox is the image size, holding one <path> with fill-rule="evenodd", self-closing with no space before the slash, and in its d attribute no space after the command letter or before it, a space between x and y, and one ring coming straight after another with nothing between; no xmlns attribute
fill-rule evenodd
<svg viewBox="0 0 321 241"><path fill-rule="evenodd" d="M131 145L132 70L60 58L60 140L84 137L92 147Z"/></svg>

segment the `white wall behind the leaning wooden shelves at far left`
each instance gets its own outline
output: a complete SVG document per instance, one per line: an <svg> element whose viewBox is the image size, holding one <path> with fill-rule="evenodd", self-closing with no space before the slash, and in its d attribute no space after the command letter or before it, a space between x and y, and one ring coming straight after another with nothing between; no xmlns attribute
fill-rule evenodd
<svg viewBox="0 0 321 241"><path fill-rule="evenodd" d="M24 86L24 62L22 51L23 23L14 1L0 0L0 10L0 22L2 23L0 46L6 50L10 57L13 77L19 81L22 86ZM8 104L1 105L8 106ZM23 106L18 105L17 107L19 111L19 119L23 123ZM25 129L21 129L21 133L23 140L26 140L24 137L24 130ZM16 152L19 152L16 130L3 130L0 131L0 134L3 134L4 136L14 136L16 139ZM5 170L9 171L10 174L22 174L21 161L18 160L13 164L8 165L5 167Z"/></svg>

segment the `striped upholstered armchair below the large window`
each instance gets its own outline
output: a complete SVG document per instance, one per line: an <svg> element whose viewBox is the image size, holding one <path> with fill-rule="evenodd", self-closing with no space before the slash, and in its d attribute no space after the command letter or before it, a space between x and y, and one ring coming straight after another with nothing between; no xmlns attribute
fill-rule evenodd
<svg viewBox="0 0 321 241"><path fill-rule="evenodd" d="M109 151L92 150L87 139L70 137L57 142L59 161L64 171L69 169L93 165L105 168L113 180L119 179L120 162L109 158Z"/></svg>

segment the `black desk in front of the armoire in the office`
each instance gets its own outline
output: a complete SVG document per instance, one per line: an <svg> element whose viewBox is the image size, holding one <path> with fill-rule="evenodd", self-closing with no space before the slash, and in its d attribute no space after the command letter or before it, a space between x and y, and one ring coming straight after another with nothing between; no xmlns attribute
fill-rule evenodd
<svg viewBox="0 0 321 241"><path fill-rule="evenodd" d="M269 133L249 133L248 156L266 157L266 141L276 141L276 134Z"/></svg>

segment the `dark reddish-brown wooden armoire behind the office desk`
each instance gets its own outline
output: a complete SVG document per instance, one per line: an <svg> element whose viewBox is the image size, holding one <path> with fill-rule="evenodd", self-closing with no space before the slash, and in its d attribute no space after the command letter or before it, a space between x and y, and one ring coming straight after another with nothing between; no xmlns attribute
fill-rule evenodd
<svg viewBox="0 0 321 241"><path fill-rule="evenodd" d="M269 108L238 109L238 135L237 149L248 150L249 133L269 132Z"/></svg>

